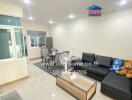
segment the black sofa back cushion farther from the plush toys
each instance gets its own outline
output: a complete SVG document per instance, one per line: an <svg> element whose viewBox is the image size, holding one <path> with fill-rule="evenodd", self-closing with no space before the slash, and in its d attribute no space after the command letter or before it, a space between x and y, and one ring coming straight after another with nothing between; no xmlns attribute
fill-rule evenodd
<svg viewBox="0 0 132 100"><path fill-rule="evenodd" d="M95 61L95 54L93 53L83 53L82 55L83 62L94 63Z"/></svg>

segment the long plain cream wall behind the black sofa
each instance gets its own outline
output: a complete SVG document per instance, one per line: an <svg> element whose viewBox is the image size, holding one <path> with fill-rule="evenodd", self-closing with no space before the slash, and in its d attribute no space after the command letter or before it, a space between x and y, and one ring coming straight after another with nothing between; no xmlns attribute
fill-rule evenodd
<svg viewBox="0 0 132 100"><path fill-rule="evenodd" d="M132 59L132 9L55 25L51 33L54 47L71 55L92 52Z"/></svg>

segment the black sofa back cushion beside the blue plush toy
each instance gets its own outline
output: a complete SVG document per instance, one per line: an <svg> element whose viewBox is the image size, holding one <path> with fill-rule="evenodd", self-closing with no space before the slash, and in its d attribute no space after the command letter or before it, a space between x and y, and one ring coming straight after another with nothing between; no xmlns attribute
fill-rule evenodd
<svg viewBox="0 0 132 100"><path fill-rule="evenodd" d="M112 62L112 57L96 55L95 64L102 67L110 67Z"/></svg>

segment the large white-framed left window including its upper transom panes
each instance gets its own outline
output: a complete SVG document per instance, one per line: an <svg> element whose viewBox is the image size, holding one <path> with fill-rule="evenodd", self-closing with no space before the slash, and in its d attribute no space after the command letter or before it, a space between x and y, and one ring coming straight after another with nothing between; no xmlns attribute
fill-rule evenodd
<svg viewBox="0 0 132 100"><path fill-rule="evenodd" d="M20 26L21 18L0 15L0 60L25 56L24 38Z"/></svg>

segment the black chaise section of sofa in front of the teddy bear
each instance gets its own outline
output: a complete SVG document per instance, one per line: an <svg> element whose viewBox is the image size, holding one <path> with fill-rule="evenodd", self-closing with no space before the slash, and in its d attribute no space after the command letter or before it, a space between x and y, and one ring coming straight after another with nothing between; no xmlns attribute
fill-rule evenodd
<svg viewBox="0 0 132 100"><path fill-rule="evenodd" d="M132 81L110 72L101 83L101 92L116 100L130 100Z"/></svg>

